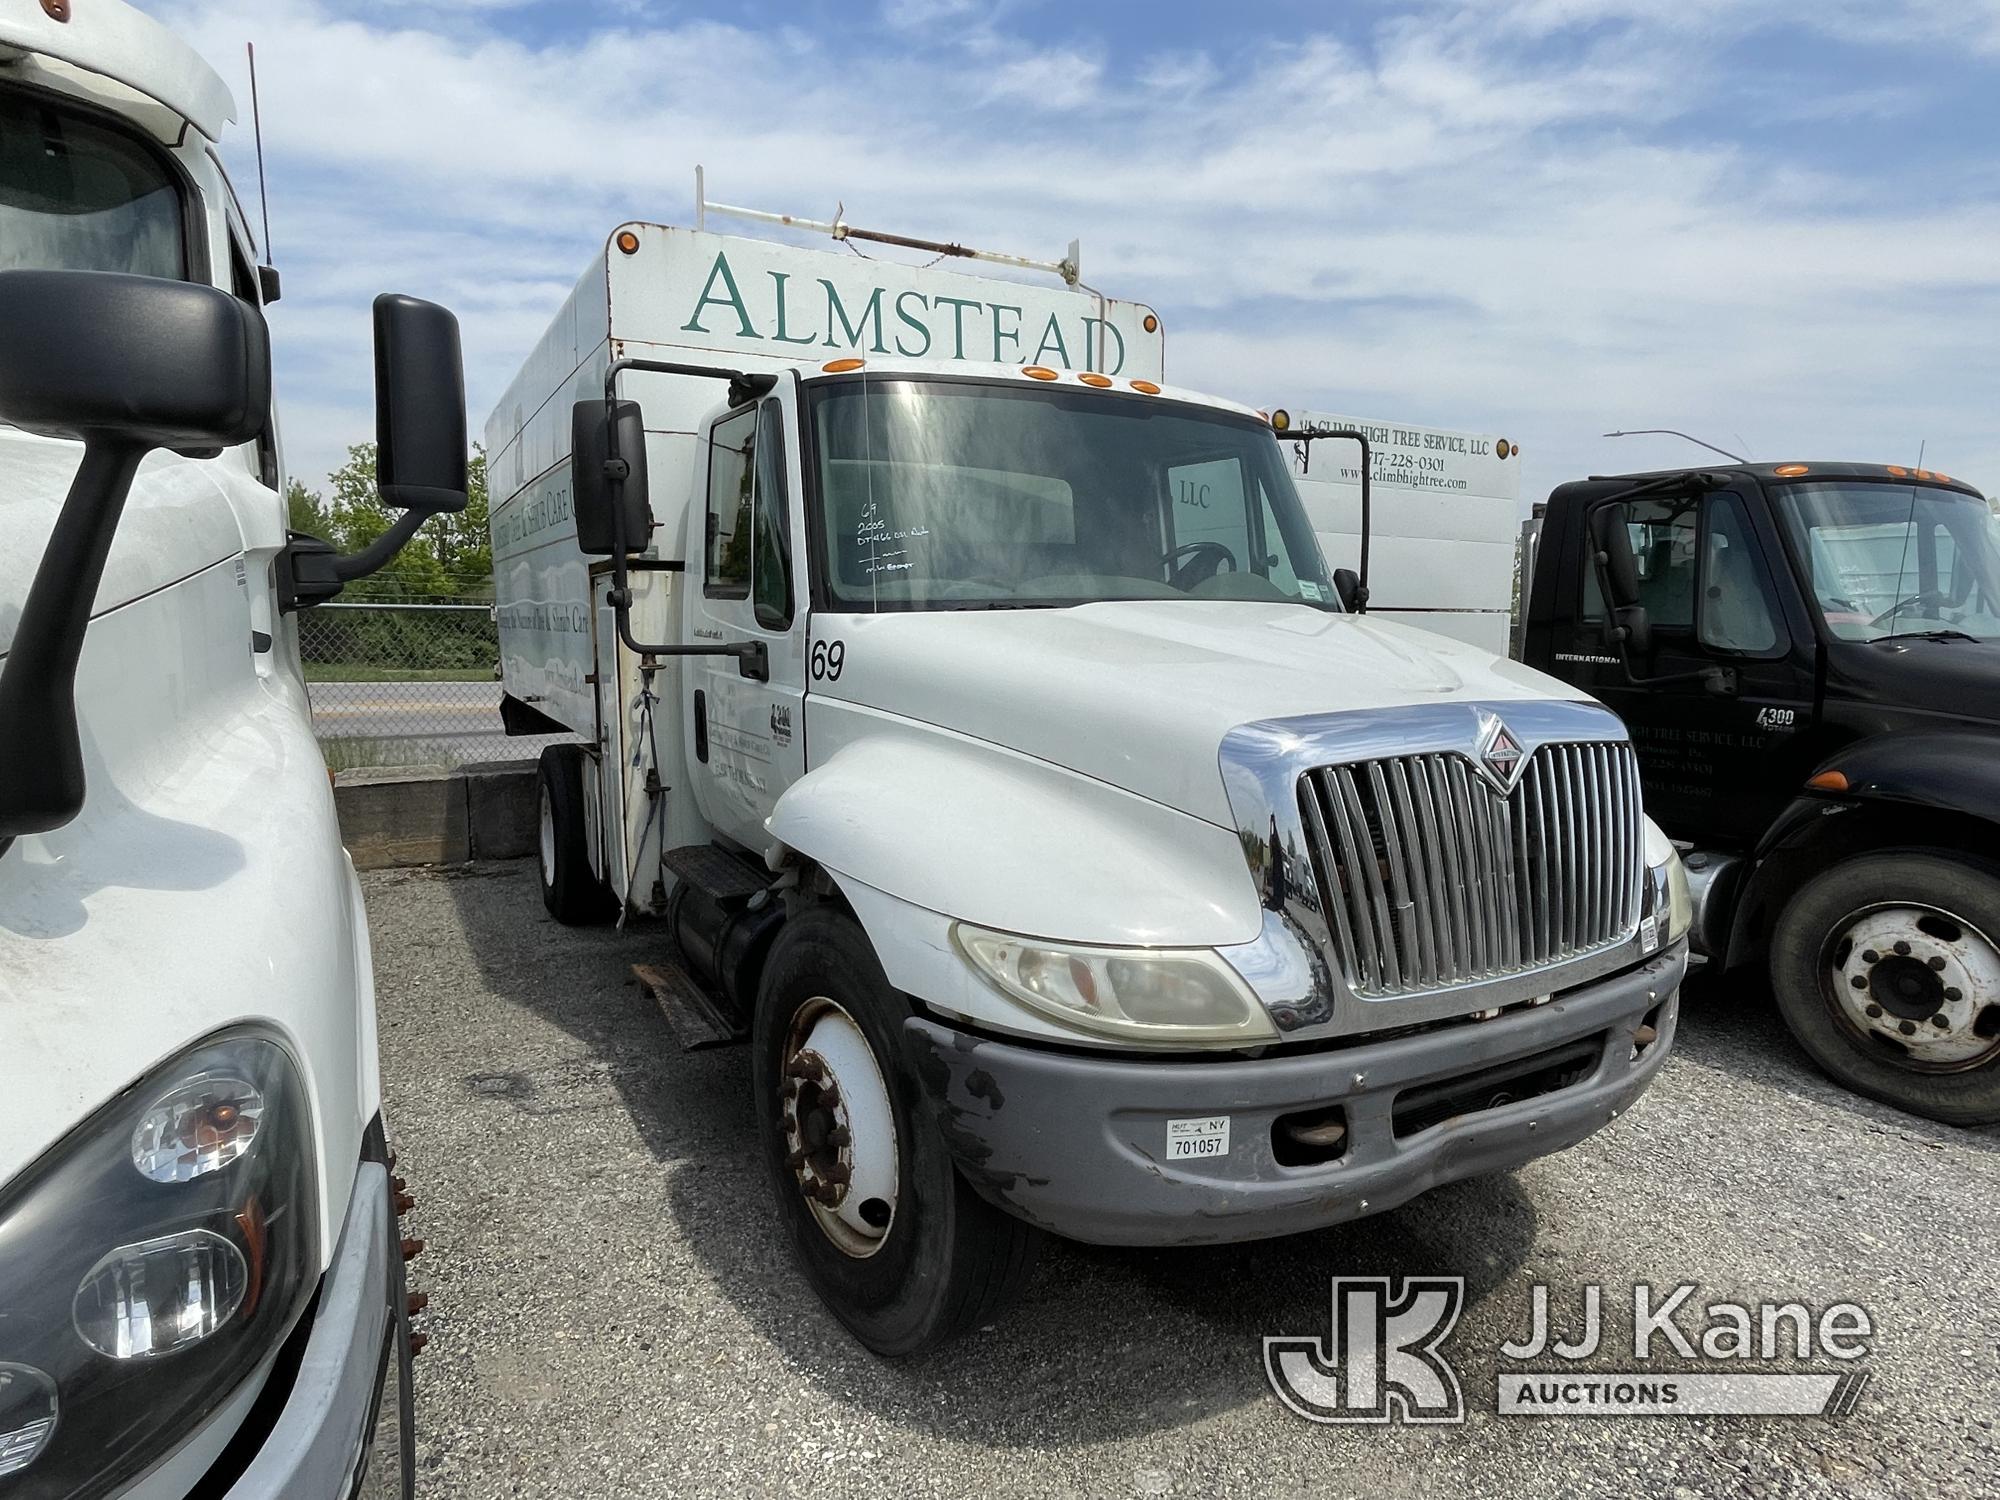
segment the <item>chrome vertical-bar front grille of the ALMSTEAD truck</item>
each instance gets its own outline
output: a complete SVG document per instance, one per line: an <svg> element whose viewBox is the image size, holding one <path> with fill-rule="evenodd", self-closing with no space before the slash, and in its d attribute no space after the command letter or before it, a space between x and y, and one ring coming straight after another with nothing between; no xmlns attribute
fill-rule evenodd
<svg viewBox="0 0 2000 1500"><path fill-rule="evenodd" d="M1630 744L1544 744L1510 792L1436 752L1320 766L1298 796L1332 956L1360 996L1520 974L1638 924Z"/></svg>

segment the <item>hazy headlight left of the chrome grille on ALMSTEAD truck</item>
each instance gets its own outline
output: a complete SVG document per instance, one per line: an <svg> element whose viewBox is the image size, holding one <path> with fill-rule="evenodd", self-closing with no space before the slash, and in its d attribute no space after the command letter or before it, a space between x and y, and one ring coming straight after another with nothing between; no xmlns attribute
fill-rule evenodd
<svg viewBox="0 0 2000 1500"><path fill-rule="evenodd" d="M1084 948L964 922L952 942L1004 994L1066 1026L1152 1046L1278 1036L1258 998L1206 948Z"/></svg>

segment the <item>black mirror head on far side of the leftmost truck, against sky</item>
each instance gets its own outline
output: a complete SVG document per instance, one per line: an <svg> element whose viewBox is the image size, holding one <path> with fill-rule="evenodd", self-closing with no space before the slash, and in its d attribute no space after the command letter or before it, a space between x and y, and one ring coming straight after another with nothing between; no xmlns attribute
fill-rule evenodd
<svg viewBox="0 0 2000 1500"><path fill-rule="evenodd" d="M376 330L376 486L426 516L466 508L466 368L458 318L384 292Z"/></svg>

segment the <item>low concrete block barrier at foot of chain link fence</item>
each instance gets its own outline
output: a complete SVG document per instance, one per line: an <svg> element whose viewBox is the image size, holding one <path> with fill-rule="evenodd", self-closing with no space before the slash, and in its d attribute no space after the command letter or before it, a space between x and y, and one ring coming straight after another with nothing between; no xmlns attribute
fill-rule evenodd
<svg viewBox="0 0 2000 1500"><path fill-rule="evenodd" d="M534 854L538 802L532 760L456 770L372 766L334 778L340 838L356 870L518 860Z"/></svg>

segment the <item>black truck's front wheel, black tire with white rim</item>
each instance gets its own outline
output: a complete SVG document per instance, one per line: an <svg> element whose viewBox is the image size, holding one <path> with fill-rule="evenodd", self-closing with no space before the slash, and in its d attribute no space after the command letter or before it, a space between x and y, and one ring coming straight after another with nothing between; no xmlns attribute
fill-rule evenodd
<svg viewBox="0 0 2000 1500"><path fill-rule="evenodd" d="M1888 850L1806 882L1778 918L1772 988L1848 1088L1950 1124L2000 1120L2000 878Z"/></svg>

